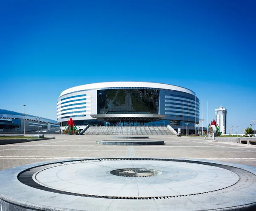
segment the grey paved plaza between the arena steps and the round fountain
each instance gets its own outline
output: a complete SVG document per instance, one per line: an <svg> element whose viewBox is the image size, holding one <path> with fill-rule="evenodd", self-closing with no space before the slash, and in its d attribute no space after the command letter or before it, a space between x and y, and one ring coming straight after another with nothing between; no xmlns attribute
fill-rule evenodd
<svg viewBox="0 0 256 211"><path fill-rule="evenodd" d="M164 140L165 145L98 145L110 135L55 135L53 140L0 145L0 171L50 160L87 157L183 157L219 160L256 167L256 145L205 142L200 137L152 135L149 140Z"/></svg>

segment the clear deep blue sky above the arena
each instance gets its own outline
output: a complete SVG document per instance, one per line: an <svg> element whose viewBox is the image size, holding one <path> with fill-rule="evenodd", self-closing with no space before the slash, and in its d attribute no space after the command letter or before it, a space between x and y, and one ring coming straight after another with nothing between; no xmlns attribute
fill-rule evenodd
<svg viewBox="0 0 256 211"><path fill-rule="evenodd" d="M2 1L0 108L56 120L73 86L168 83L204 100L204 125L207 100L209 122L227 108L236 133L256 120L255 11L255 0Z"/></svg>

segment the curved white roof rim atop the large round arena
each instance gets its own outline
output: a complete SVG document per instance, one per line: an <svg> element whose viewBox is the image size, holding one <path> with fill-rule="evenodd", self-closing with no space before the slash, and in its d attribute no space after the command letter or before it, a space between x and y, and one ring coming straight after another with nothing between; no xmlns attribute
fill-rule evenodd
<svg viewBox="0 0 256 211"><path fill-rule="evenodd" d="M61 92L61 96L65 94L70 94L73 92L78 91L86 91L86 90L93 90L93 89L101 89L101 88L128 88L128 87L135 87L135 88L157 88L157 89L167 89L167 90L175 90L175 91L182 91L185 93L195 95L195 92L188 88L184 88L181 86L174 86L170 84L164 83L151 83L151 82L131 82L131 81L119 81L119 82L102 82L102 83L90 83L81 86L75 86L72 88L68 88Z"/></svg>

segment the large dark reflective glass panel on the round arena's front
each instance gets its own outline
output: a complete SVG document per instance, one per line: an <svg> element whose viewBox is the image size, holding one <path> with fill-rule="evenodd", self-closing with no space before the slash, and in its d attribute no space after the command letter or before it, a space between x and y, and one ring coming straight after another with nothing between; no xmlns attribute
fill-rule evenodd
<svg viewBox="0 0 256 211"><path fill-rule="evenodd" d="M159 90L105 89L97 91L98 114L158 114Z"/></svg>

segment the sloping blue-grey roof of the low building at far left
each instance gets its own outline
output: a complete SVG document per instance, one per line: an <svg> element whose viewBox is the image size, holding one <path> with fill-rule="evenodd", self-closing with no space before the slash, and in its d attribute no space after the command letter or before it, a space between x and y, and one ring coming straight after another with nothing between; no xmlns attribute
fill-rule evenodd
<svg viewBox="0 0 256 211"><path fill-rule="evenodd" d="M33 116L29 114L25 114L25 120L35 120L36 117L38 116ZM0 109L0 118L12 118L12 119L24 119L24 114L16 111L9 111L5 109ZM45 123L52 123L52 124L57 124L57 121L55 120L50 120L44 117L40 117L41 120L40 122L45 122Z"/></svg>

